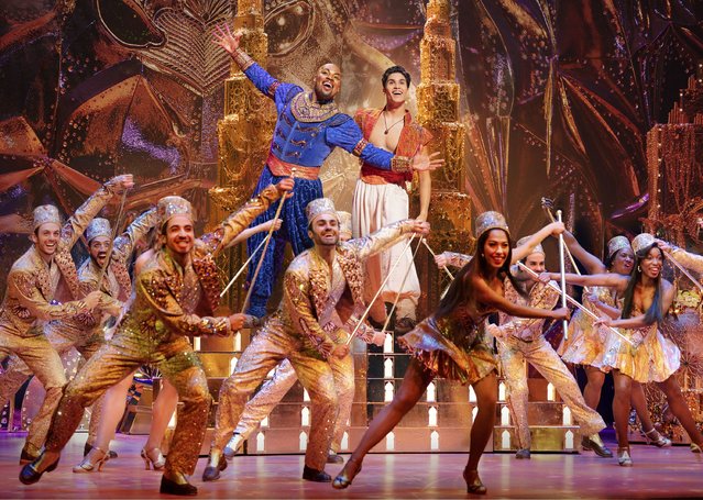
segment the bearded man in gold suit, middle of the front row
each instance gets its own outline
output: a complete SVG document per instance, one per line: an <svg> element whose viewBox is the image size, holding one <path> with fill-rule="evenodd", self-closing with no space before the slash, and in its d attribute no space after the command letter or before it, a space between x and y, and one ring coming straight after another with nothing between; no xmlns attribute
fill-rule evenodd
<svg viewBox="0 0 703 500"><path fill-rule="evenodd" d="M429 232L427 222L406 220L363 238L340 243L339 219L331 200L314 200L306 212L315 246L290 263L278 311L266 321L244 349L232 376L222 384L204 480L219 478L227 466L222 451L248 396L284 359L293 365L312 403L303 479L331 480L325 473L325 463L338 415L337 395L353 387L354 369L347 340L364 311L362 264L369 255L408 233ZM369 341L374 333L371 327L360 325L361 338ZM338 388L340 380L343 386Z"/></svg>

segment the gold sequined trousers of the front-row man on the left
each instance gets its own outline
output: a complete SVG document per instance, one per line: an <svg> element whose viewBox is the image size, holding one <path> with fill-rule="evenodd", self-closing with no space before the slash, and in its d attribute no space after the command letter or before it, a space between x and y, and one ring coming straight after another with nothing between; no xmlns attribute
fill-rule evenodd
<svg viewBox="0 0 703 500"><path fill-rule="evenodd" d="M66 387L48 431L46 449L63 449L80 422L83 409L142 365L156 366L178 392L183 407L178 409L166 470L191 475L212 398L200 359L185 336L165 342L127 331L103 345Z"/></svg>

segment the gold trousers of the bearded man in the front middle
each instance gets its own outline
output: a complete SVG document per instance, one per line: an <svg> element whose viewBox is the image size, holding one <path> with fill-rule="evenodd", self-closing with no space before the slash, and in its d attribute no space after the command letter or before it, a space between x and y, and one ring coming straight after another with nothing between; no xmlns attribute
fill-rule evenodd
<svg viewBox="0 0 703 500"><path fill-rule="evenodd" d="M283 332L279 325L270 324L254 336L237 363L234 373L220 389L212 452L222 452L244 411L249 395L268 371L287 358L310 395L312 407L305 465L317 470L325 469L338 413L334 376L329 363L301 352L301 344L299 338Z"/></svg>

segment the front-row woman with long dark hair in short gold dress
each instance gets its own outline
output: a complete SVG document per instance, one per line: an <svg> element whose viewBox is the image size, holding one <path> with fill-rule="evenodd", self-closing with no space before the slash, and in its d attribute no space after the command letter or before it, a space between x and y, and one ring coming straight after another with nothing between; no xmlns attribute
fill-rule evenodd
<svg viewBox="0 0 703 500"><path fill-rule="evenodd" d="M486 487L479 478L479 460L483 454L495 421L497 398L497 363L492 346L485 342L483 323L493 312L503 311L521 318L569 316L568 309L554 311L535 309L510 302L504 298L503 281L519 286L509 273L513 262L510 236L505 218L497 212L484 212L475 224L476 252L471 262L458 273L449 291L441 299L435 314L420 322L415 330L399 338L413 354L405 378L393 402L371 422L359 446L352 453L332 486L341 489L351 485L361 470L364 456L395 427L400 419L420 399L435 377L470 384L477 399L479 412L471 426L471 449L463 477L466 491L485 495ZM563 224L551 225L563 231ZM546 230L546 229L545 229ZM550 231L537 234L546 237ZM531 253L536 235L516 257Z"/></svg>

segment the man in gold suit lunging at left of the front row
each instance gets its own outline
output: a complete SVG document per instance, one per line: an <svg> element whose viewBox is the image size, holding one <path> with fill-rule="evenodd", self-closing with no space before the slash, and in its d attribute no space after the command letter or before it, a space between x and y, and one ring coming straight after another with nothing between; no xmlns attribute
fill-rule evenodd
<svg viewBox="0 0 703 500"><path fill-rule="evenodd" d="M114 336L66 387L45 451L40 458L24 466L20 473L22 482L36 482L44 471L56 467L61 451L80 422L84 408L134 368L151 364L158 367L176 388L183 402L161 492L197 495L197 488L186 476L193 474L198 460L211 397L205 371L188 337L230 335L242 327L244 316L200 316L190 311L197 304L210 310L217 308L219 279L215 258L256 215L290 189L292 179L270 186L215 232L199 240L194 236L194 214L187 200L165 197L158 201L161 238L165 245L138 276L134 301Z"/></svg>

